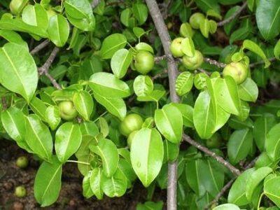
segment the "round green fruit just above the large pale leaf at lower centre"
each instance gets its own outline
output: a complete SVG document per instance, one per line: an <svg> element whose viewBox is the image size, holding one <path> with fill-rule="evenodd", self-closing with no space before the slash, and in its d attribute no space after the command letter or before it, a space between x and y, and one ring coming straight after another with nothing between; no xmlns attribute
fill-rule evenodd
<svg viewBox="0 0 280 210"><path fill-rule="evenodd" d="M140 130L143 123L143 119L138 114L129 114L120 123L120 133L128 137L134 130Z"/></svg>

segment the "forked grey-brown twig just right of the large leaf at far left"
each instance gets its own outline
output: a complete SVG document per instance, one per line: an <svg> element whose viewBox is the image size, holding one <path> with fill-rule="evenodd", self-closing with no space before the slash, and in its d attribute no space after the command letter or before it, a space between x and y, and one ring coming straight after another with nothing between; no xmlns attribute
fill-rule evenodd
<svg viewBox="0 0 280 210"><path fill-rule="evenodd" d="M38 73L39 75L45 75L46 77L48 77L50 79L50 82L52 83L52 85L57 88L58 90L61 90L62 87L59 85L59 83L57 83L57 81L55 80L55 78L53 78L50 73L48 73L48 69L50 69L50 65L52 64L52 62L54 61L55 57L57 56L57 52L59 51L59 48L55 47L52 52L50 53L50 57L48 57L48 59L46 60L46 62L43 64L43 66L41 66L40 68L38 68Z"/></svg>

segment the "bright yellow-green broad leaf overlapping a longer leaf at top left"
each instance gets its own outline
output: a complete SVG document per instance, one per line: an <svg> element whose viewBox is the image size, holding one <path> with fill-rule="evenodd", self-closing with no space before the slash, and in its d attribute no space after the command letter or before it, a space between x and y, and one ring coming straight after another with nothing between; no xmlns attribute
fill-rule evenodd
<svg viewBox="0 0 280 210"><path fill-rule="evenodd" d="M43 30L48 28L48 14L39 3L35 3L34 5L29 4L23 9L22 21Z"/></svg>

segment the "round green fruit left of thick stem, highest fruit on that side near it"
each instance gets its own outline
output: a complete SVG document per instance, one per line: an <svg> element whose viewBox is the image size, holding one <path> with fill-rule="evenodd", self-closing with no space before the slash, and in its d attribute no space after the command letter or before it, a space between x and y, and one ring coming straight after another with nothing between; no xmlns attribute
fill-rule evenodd
<svg viewBox="0 0 280 210"><path fill-rule="evenodd" d="M147 74L153 69L155 64L154 57L151 52L141 50L134 58L134 66L136 71L141 74Z"/></svg>

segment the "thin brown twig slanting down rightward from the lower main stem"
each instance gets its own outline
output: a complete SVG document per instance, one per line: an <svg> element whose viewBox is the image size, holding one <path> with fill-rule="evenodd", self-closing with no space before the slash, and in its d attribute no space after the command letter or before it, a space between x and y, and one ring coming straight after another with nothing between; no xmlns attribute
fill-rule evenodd
<svg viewBox="0 0 280 210"><path fill-rule="evenodd" d="M210 151L209 148L202 146L201 144L198 144L197 141L191 139L186 134L183 134L183 140L187 141L189 144L195 146L196 148L198 148L200 151L206 153L207 155L210 155L212 158L214 158L215 160L220 162L222 165L224 165L225 167L230 169L230 172L232 172L232 174L235 174L237 176L239 176L241 174L239 169L237 169L236 167L231 165L230 162L226 161L225 159L223 159L221 156L217 155L216 153Z"/></svg>

